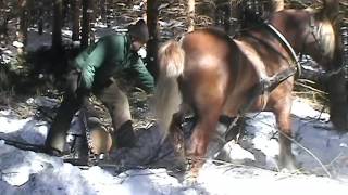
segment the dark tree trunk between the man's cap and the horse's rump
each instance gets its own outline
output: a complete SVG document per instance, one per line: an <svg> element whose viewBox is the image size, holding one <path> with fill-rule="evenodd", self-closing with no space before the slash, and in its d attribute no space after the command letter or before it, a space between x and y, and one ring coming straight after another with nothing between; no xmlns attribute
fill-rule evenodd
<svg viewBox="0 0 348 195"><path fill-rule="evenodd" d="M158 77L158 64L157 53L159 48L159 4L160 0L150 0L147 2L147 24L149 29L150 40L147 43L147 68L153 75L157 80Z"/></svg>

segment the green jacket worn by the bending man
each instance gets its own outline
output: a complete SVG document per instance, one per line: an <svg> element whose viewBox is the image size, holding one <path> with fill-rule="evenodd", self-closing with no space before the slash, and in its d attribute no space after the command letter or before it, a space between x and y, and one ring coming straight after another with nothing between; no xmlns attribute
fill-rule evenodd
<svg viewBox="0 0 348 195"><path fill-rule="evenodd" d="M152 91L154 81L137 52L130 50L130 38L124 35L109 35L90 44L75 60L82 70L82 84L91 89L94 84L105 83L124 70L134 70L146 91Z"/></svg>

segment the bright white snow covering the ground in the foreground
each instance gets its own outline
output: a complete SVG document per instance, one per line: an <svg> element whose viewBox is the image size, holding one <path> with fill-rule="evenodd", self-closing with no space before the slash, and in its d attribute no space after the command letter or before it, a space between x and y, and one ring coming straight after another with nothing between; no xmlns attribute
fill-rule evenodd
<svg viewBox="0 0 348 195"><path fill-rule="evenodd" d="M29 104L52 104L35 99ZM246 139L227 143L225 156L232 162L208 160L195 185L185 185L164 168L79 169L61 158L22 151L0 140L0 194L346 194L348 192L348 134L332 129L327 114L320 114L300 100L294 101L293 125L298 144L294 152L302 169L298 173L276 171L277 141L274 116L249 116ZM42 144L46 121L20 119L11 110L0 112L0 135ZM151 131L149 131L151 132ZM149 142L151 143L151 142ZM150 145L150 144L149 144ZM146 147L146 145L144 146ZM323 167L313 156L320 159ZM228 151L229 150L229 151ZM129 153L130 154L130 153ZM127 154L124 154L127 155ZM219 156L219 155L217 155ZM224 159L221 158L221 159Z"/></svg>

